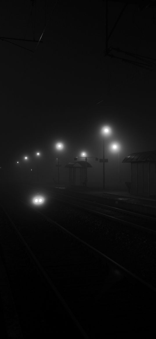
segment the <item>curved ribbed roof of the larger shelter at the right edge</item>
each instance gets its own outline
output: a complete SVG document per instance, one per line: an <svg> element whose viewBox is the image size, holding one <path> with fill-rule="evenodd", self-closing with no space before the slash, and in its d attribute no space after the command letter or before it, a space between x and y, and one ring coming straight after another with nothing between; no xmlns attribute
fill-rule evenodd
<svg viewBox="0 0 156 339"><path fill-rule="evenodd" d="M156 161L156 151L129 154L122 162Z"/></svg>

